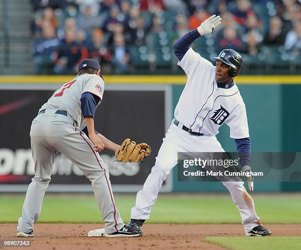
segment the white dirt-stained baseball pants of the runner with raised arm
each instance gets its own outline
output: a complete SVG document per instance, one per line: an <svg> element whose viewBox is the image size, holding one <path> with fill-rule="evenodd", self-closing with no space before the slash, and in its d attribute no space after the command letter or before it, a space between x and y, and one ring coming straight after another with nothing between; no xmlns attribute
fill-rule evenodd
<svg viewBox="0 0 301 250"><path fill-rule="evenodd" d="M172 124L163 139L143 189L137 193L136 205L131 210L131 219L150 219L151 205L155 203L163 181L178 163L178 152L224 152L215 136L193 136ZM260 224L252 197L243 182L222 182L228 188L236 204L246 232Z"/></svg>

